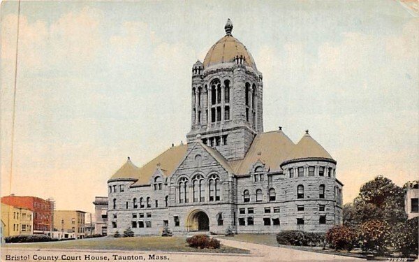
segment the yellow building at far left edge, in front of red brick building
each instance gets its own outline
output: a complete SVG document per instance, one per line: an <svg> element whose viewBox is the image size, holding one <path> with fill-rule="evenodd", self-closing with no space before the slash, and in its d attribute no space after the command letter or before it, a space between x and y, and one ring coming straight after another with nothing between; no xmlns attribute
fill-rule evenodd
<svg viewBox="0 0 419 262"><path fill-rule="evenodd" d="M33 212L29 208L22 208L1 203L1 221L3 222L3 236L32 235Z"/></svg>

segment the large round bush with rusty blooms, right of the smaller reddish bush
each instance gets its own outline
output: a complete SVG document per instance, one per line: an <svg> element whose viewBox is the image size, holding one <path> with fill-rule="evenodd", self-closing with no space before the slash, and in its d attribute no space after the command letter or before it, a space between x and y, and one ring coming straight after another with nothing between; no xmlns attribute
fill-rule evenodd
<svg viewBox="0 0 419 262"><path fill-rule="evenodd" d="M390 226L385 221L367 221L360 225L358 241L363 251L384 254L390 244Z"/></svg>

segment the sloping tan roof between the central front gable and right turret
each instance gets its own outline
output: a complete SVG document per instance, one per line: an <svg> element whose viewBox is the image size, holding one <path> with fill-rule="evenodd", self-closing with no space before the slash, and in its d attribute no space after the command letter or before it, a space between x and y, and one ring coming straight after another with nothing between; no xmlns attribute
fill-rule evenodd
<svg viewBox="0 0 419 262"><path fill-rule="evenodd" d="M249 168L258 160L270 167L270 171L280 170L279 165L286 160L286 156L294 149L295 144L283 131L260 133L253 139L253 143L243 160L230 161L230 166L237 175L249 173Z"/></svg>

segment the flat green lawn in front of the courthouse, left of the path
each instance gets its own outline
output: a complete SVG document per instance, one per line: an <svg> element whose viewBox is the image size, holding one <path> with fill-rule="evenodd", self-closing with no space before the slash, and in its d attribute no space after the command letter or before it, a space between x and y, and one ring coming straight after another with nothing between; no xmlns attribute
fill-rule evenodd
<svg viewBox="0 0 419 262"><path fill-rule="evenodd" d="M209 252L249 254L249 250L221 245L219 249L196 249L189 247L186 237L135 237L135 238L90 238L60 242L13 243L2 245L5 248L36 249L93 249L93 250L136 250L161 252Z"/></svg>

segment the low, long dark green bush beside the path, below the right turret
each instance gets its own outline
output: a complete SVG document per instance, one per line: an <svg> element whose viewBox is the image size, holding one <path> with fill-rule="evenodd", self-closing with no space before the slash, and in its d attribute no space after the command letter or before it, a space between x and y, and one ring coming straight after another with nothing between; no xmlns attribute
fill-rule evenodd
<svg viewBox="0 0 419 262"><path fill-rule="evenodd" d="M277 234L279 245L323 246L325 236L321 233L304 231L281 231Z"/></svg>

